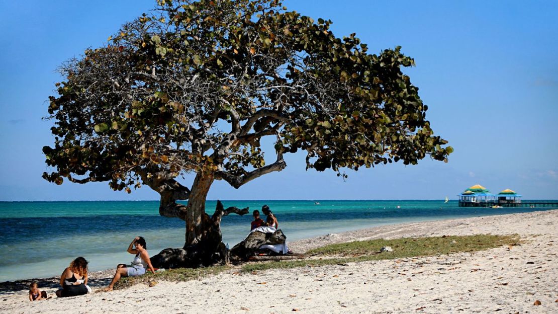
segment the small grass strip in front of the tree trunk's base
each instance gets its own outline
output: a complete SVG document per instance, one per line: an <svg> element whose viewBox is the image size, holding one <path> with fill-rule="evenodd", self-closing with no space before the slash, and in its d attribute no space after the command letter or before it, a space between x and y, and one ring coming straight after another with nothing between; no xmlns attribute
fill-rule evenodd
<svg viewBox="0 0 558 314"><path fill-rule="evenodd" d="M114 285L114 289L122 289L134 286L138 283L146 283L149 285L154 285L160 280L165 281L189 281L199 278L207 277L208 275L215 275L230 269L228 265L217 265L211 267L200 267L200 268L177 268L166 270L161 273L147 273L140 277L125 277L119 280Z"/></svg>

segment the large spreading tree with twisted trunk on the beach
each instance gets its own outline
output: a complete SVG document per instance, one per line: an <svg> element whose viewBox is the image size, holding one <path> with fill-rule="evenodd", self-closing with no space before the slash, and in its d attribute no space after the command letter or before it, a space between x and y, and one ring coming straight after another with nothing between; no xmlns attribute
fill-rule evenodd
<svg viewBox="0 0 558 314"><path fill-rule="evenodd" d="M162 216L186 222L180 265L229 259L205 199L214 180L234 188L281 171L283 154L306 151L306 169L358 170L453 151L435 136L418 88L402 73L401 47L369 54L331 21L286 11L276 0L158 0L106 46L70 59L50 97L50 182L108 181L161 194ZM260 141L276 139L266 164ZM190 188L178 177L194 174ZM188 200L179 204L179 200ZM155 260L155 256L153 257ZM157 267L157 265L156 265Z"/></svg>

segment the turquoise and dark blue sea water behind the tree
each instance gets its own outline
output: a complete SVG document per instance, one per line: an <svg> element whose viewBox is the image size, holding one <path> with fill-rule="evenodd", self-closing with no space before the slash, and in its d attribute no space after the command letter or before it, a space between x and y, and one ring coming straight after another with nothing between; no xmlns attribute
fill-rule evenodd
<svg viewBox="0 0 558 314"><path fill-rule="evenodd" d="M223 201L226 207L270 206L287 241L374 226L466 218L550 208L458 207L457 201ZM216 201L208 201L213 213ZM399 208L398 208L399 207ZM230 247L250 229L251 215L223 218L223 241ZM92 271L129 263L126 252L137 236L151 255L184 244L184 221L158 215L158 201L0 202L0 282L60 275L77 256Z"/></svg>

